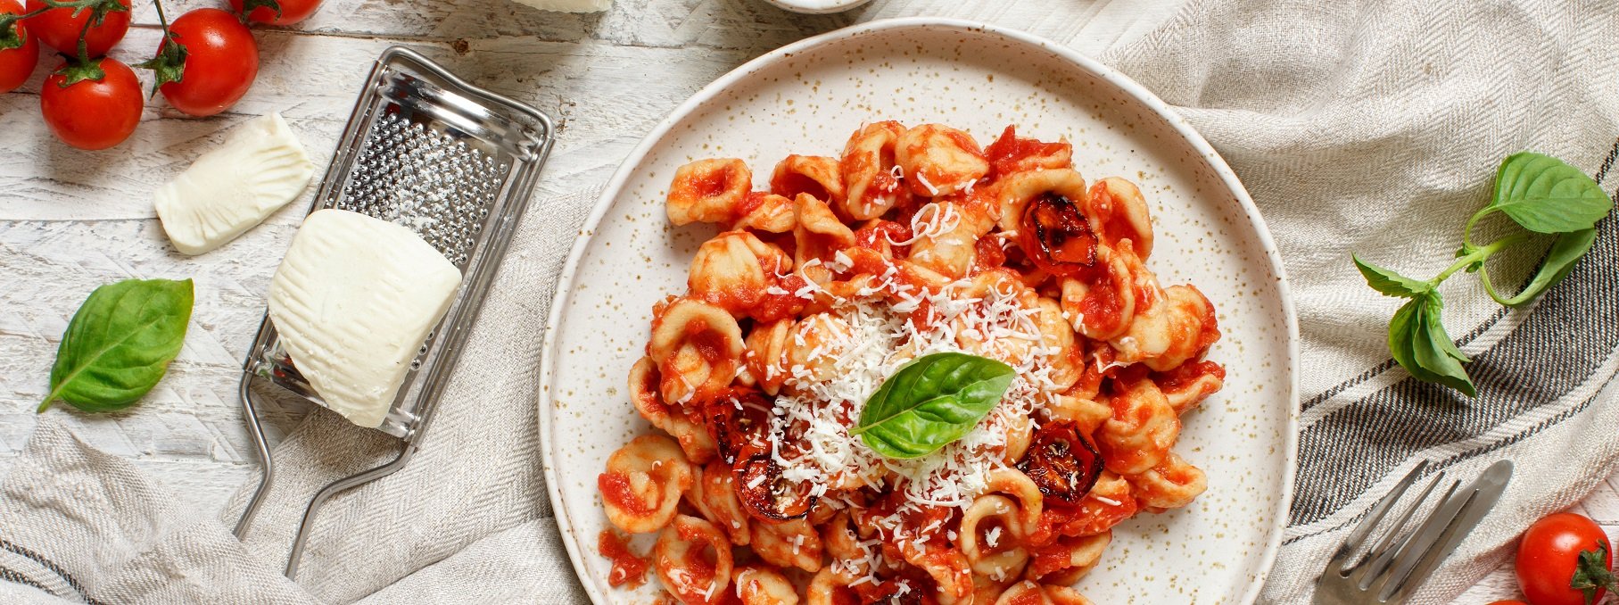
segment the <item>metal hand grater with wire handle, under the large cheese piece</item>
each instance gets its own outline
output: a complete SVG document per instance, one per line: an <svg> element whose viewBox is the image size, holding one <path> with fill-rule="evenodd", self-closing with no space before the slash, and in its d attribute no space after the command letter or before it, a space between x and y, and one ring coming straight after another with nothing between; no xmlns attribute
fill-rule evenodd
<svg viewBox="0 0 1619 605"><path fill-rule="evenodd" d="M377 427L400 440L398 458L316 493L293 539L288 578L298 571L308 531L327 498L398 471L416 451L550 144L550 118L533 107L466 84L405 47L377 58L309 212L343 209L405 225L461 270L461 286ZM266 314L238 388L264 471L236 522L236 537L246 532L274 479L249 388L254 379L324 404L298 374Z"/></svg>

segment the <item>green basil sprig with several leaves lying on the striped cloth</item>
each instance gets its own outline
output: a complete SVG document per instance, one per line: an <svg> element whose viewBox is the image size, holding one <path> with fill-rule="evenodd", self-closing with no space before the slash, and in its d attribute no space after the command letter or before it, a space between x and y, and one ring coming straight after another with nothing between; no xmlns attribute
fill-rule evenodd
<svg viewBox="0 0 1619 605"><path fill-rule="evenodd" d="M1410 299L1389 320L1389 353L1394 361L1418 380L1436 382L1467 393L1467 396L1478 395L1467 369L1462 367L1470 359L1455 348L1439 320L1439 314L1444 311L1439 283L1465 269L1468 273L1478 273L1485 291L1496 302L1528 304L1574 270L1574 264L1596 241L1596 222L1606 217L1613 205L1614 202L1608 199L1601 186L1579 168L1551 155L1519 152L1501 162L1489 204L1467 220L1467 226L1462 230L1462 249L1455 252L1455 262L1438 277L1426 281L1413 280L1355 256L1355 267L1360 269L1360 275L1366 278L1371 290ZM1496 212L1511 218L1523 231L1483 246L1475 244L1473 226ZM1523 291L1512 296L1496 291L1489 281L1485 259L1530 241L1532 233L1554 236L1546 251L1546 260L1541 262L1540 270L1523 286Z"/></svg>

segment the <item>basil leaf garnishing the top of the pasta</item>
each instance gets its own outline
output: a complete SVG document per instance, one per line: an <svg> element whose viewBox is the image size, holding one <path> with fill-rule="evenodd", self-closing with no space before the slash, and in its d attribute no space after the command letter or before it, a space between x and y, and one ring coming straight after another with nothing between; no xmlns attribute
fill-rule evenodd
<svg viewBox="0 0 1619 605"><path fill-rule="evenodd" d="M978 425L1013 377L1010 366L965 353L913 359L871 393L848 434L889 458L926 456Z"/></svg>

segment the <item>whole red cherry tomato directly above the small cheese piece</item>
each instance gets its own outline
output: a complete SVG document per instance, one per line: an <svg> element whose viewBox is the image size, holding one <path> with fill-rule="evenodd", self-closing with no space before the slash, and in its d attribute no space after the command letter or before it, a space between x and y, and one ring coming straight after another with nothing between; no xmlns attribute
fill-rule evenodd
<svg viewBox="0 0 1619 605"><path fill-rule="evenodd" d="M168 105L188 115L215 115L253 87L259 74L259 45L235 15L198 8L175 19L168 31L186 47L180 81L159 87Z"/></svg>

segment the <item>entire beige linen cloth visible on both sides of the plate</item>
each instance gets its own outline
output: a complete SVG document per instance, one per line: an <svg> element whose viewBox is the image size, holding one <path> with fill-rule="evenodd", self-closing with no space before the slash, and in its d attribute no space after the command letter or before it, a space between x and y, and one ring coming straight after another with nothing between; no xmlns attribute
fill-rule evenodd
<svg viewBox="0 0 1619 605"><path fill-rule="evenodd" d="M1033 26L1088 44L1052 28ZM1305 340L1298 487L1263 600L1308 602L1345 527L1418 459L1468 479L1499 458L1519 463L1425 603L1460 594L1530 519L1609 472L1619 456L1614 220L1532 309L1501 312L1467 275L1446 283L1447 327L1477 359L1477 400L1417 383L1387 361L1383 333L1397 301L1368 290L1349 252L1417 277L1438 272L1496 162L1519 149L1559 155L1614 189L1614 6L1595 2L1193 0L1103 57L1232 163L1290 273ZM385 438L311 414L277 446L277 482L236 542L227 527L251 485L219 519L188 518L128 461L47 419L0 487L0 579L10 581L0 600L583 602L544 495L533 401L555 275L591 199L536 201L447 390L447 401L474 404L444 406L402 472L327 503L298 584L280 568L303 505L376 464ZM1502 275L1520 278L1535 260L1509 259Z"/></svg>

